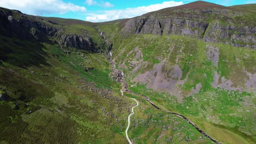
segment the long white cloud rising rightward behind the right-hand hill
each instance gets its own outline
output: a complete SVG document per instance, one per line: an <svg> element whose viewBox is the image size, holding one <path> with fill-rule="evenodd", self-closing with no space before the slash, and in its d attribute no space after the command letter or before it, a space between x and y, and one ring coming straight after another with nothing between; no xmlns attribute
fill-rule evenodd
<svg viewBox="0 0 256 144"><path fill-rule="evenodd" d="M137 7L137 8L98 11L98 13L87 14L88 16L86 16L85 20L91 21L91 22L101 22L101 21L125 19L125 18L139 16L145 13L149 13L150 11L155 11L155 10L168 8L168 7L174 7L181 4L183 4L183 2L167 1L160 4L152 4L152 5Z"/></svg>

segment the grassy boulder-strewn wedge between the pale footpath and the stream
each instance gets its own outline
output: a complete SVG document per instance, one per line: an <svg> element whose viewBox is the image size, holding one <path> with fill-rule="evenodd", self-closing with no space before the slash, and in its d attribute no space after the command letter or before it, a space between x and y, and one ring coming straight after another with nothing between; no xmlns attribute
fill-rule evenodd
<svg viewBox="0 0 256 144"><path fill-rule="evenodd" d="M144 97L124 94L139 101L139 106L135 108L135 115L131 117L133 127L128 133L133 142L213 143L183 119L156 110Z"/></svg>

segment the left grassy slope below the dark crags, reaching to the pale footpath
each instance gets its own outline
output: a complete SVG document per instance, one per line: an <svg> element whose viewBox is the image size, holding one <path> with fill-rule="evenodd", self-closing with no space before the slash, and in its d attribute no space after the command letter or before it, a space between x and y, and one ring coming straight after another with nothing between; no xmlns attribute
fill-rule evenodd
<svg viewBox="0 0 256 144"><path fill-rule="evenodd" d="M15 45L15 41L19 41L19 45ZM130 102L120 97L118 83L109 79L105 55L88 53L85 59L78 55L82 52L67 55L58 45L45 43L40 45L43 54L39 50L27 53L33 48L29 41L6 37L1 37L0 44L1 47L13 44L0 67L1 91L11 97L0 103L1 141L125 142L123 131L129 114L126 105ZM82 64L101 67L86 72ZM108 92L107 88L111 91L106 94L108 99L93 90ZM13 109L15 102L19 110ZM28 107L24 106L26 103ZM120 107L113 106L115 104Z"/></svg>

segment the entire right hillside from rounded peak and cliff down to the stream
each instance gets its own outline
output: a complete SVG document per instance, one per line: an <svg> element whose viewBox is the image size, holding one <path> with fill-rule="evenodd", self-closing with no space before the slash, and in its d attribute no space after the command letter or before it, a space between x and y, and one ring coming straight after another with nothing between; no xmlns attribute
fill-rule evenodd
<svg viewBox="0 0 256 144"><path fill-rule="evenodd" d="M255 143L255 19L195 2L98 27L132 92L220 142Z"/></svg>

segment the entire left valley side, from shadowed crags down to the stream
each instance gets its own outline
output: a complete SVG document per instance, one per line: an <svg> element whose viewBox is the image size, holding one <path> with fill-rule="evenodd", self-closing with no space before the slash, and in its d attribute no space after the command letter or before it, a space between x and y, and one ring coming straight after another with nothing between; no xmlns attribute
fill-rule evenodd
<svg viewBox="0 0 256 144"><path fill-rule="evenodd" d="M211 143L183 119L120 94L111 44L96 26L0 8L0 143L125 143L135 105L127 97L139 100L133 143Z"/></svg>

